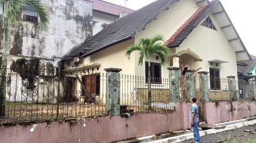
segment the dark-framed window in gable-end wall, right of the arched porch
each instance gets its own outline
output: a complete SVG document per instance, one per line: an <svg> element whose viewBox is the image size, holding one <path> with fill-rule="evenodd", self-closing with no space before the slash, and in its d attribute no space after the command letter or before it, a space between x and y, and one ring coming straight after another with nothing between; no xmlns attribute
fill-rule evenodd
<svg viewBox="0 0 256 143"><path fill-rule="evenodd" d="M220 90L221 80L220 80L220 70L215 68L210 68L210 90Z"/></svg>

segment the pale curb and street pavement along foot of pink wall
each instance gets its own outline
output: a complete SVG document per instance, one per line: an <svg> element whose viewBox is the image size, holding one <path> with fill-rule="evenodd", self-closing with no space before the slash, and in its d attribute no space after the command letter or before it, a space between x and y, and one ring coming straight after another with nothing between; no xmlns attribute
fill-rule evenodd
<svg viewBox="0 0 256 143"><path fill-rule="evenodd" d="M256 116L253 118L234 120L219 124L201 125L199 131L202 143L256 143L249 142L250 140L256 140ZM192 140L192 130L186 130L170 133L160 133L158 135L146 137L131 138L130 140L118 141L118 143L187 143L191 142Z"/></svg>

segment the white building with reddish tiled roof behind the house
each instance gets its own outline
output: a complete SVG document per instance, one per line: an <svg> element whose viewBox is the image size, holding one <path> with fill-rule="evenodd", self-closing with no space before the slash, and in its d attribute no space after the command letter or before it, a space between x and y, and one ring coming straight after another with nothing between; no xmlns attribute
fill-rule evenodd
<svg viewBox="0 0 256 143"><path fill-rule="evenodd" d="M110 23L117 21L122 16L130 14L134 10L114 5L101 0L89 0L93 2L93 36L107 27Z"/></svg>

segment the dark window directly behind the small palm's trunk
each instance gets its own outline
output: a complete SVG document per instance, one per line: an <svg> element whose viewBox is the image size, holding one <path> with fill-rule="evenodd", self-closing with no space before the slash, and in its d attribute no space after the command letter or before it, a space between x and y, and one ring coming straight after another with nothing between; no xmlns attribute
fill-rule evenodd
<svg viewBox="0 0 256 143"><path fill-rule="evenodd" d="M145 71L146 71L146 83L148 77L148 62L145 62ZM160 63L150 63L150 78L152 84L161 84L161 65Z"/></svg>

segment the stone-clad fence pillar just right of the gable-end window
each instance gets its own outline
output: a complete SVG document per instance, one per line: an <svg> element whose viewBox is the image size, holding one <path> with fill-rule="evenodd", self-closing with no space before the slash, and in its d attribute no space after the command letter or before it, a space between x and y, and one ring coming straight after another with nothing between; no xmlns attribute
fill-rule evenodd
<svg viewBox="0 0 256 143"><path fill-rule="evenodd" d="M237 88L236 88L236 80L234 79L236 76L227 76L229 83L229 99L230 101L237 101Z"/></svg>

